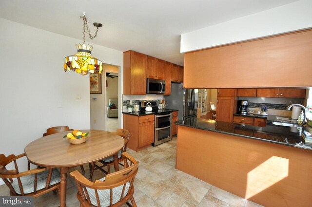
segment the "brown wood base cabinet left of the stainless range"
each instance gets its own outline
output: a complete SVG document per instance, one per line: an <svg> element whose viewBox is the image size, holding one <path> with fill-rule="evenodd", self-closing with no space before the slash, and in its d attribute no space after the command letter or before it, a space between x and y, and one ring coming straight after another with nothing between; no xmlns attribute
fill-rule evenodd
<svg viewBox="0 0 312 207"><path fill-rule="evenodd" d="M123 128L131 132L128 148L139 151L154 142L155 115L136 116L123 114Z"/></svg>

